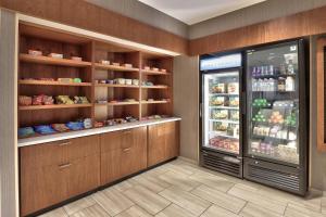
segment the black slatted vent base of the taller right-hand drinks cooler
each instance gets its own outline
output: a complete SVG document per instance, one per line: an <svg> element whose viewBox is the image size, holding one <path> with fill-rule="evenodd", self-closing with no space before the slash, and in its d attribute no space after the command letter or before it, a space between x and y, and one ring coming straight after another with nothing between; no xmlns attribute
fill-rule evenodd
<svg viewBox="0 0 326 217"><path fill-rule="evenodd" d="M244 179L305 195L306 173L303 169L248 157L243 163Z"/></svg>

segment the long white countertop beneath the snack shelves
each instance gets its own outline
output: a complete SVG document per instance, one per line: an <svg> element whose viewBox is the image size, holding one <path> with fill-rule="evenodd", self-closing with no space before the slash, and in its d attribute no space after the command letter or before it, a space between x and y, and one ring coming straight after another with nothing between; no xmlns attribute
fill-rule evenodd
<svg viewBox="0 0 326 217"><path fill-rule="evenodd" d="M40 143L46 143L46 142L66 140L66 139L74 139L74 138L78 138L78 137L100 135L100 133L130 129L130 128L136 128L136 127L163 124L163 123L168 123L168 122L176 122L176 120L180 120L180 119L181 118L179 118L179 117L168 117L168 118L163 118L163 119L140 120L140 122L135 122L135 123L127 123L127 124L121 124L121 125L108 126L108 127L101 127L101 128L91 128L91 129L84 129L84 130L78 130L78 131L70 131L70 132L47 135L47 136L40 136L40 137L32 137L32 138L26 138L26 139L18 139L18 148L28 146L28 145L33 145L33 144L40 144Z"/></svg>

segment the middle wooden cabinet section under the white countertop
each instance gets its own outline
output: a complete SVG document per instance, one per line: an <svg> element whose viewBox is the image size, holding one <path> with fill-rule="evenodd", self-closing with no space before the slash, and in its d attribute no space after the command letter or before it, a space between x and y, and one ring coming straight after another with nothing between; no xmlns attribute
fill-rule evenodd
<svg viewBox="0 0 326 217"><path fill-rule="evenodd" d="M101 135L101 184L147 167L147 127Z"/></svg>

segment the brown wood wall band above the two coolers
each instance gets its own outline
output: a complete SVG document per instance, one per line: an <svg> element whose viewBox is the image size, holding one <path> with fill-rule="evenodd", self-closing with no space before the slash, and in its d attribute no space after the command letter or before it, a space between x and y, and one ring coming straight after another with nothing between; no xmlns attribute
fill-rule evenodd
<svg viewBox="0 0 326 217"><path fill-rule="evenodd" d="M189 41L198 55L326 33L326 7Z"/></svg>

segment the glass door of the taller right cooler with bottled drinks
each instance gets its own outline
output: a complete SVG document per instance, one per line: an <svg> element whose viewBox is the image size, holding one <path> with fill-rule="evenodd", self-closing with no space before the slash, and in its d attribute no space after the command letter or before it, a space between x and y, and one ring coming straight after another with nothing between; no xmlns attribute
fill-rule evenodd
<svg viewBox="0 0 326 217"><path fill-rule="evenodd" d="M299 164L298 43L247 52L247 154Z"/></svg>

